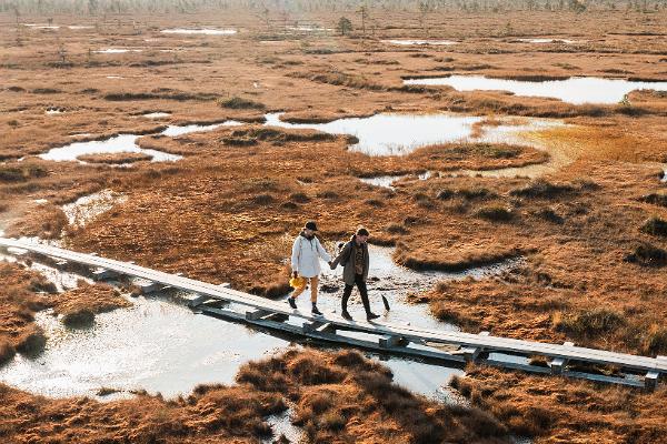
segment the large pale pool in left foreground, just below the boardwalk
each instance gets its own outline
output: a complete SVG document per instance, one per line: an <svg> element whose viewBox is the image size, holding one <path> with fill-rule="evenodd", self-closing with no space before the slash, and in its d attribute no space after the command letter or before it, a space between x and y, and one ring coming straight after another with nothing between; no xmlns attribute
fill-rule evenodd
<svg viewBox="0 0 667 444"><path fill-rule="evenodd" d="M58 397L94 395L100 387L187 394L198 384L230 384L242 363L289 345L183 305L143 297L130 309L97 315L90 330L69 330L47 312L38 313L36 322L49 337L47 349L34 360L17 356L0 369L0 380Z"/></svg>

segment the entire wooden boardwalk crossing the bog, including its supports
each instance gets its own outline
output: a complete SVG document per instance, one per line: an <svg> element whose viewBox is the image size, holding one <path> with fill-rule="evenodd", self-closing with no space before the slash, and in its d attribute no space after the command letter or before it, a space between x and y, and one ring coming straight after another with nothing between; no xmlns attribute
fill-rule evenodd
<svg viewBox="0 0 667 444"><path fill-rule="evenodd" d="M347 321L337 314L315 316L291 310L285 301L235 291L178 274L147 269L130 262L100 258L27 241L0 238L0 248L11 254L44 255L91 269L97 279L118 275L140 279L145 293L166 287L183 290L196 299L190 305L206 314L231 319L289 334L351 345L390 354L424 357L465 364L475 361L488 365L518 369L593 381L655 390L667 375L667 357L648 357L604 350L586 349L573 343L549 344L446 330L420 329L384 322ZM535 357L539 359L535 359ZM600 372L595 367L613 367Z"/></svg>

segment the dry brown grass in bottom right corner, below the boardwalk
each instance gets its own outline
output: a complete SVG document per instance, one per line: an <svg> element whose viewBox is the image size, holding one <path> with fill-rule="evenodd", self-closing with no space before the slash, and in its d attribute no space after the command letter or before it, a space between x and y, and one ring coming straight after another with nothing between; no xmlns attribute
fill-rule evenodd
<svg viewBox="0 0 667 444"><path fill-rule="evenodd" d="M468 366L452 386L516 434L540 443L664 442L667 391L596 385L564 377Z"/></svg>

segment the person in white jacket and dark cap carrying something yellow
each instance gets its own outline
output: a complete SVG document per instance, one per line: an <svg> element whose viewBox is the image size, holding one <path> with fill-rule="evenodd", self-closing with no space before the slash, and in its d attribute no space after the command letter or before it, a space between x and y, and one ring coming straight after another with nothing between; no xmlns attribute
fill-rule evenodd
<svg viewBox="0 0 667 444"><path fill-rule="evenodd" d="M295 239L292 245L291 268L295 278L301 276L310 281L310 302L312 302L312 314L322 314L317 310L317 290L319 285L319 275L321 273L319 259L323 259L331 265L331 256L322 246L315 232L317 225L313 221L306 222L301 233ZM295 289L287 302L292 309L297 307L296 299L303 293L306 285Z"/></svg>

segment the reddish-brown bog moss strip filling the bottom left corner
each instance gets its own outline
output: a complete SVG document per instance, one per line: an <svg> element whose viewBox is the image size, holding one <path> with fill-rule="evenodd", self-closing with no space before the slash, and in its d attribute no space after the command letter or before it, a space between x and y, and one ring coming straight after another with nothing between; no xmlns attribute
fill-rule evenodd
<svg viewBox="0 0 667 444"><path fill-rule="evenodd" d="M278 394L222 385L200 386L172 401L145 394L109 403L53 400L6 385L0 385L0 396L2 436L12 443L250 444L270 436L266 416L286 408Z"/></svg>

